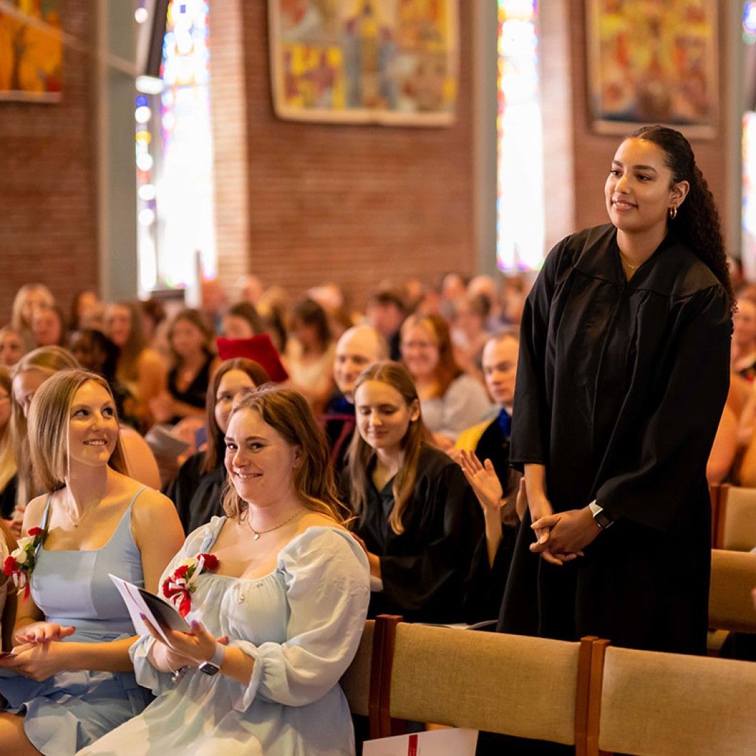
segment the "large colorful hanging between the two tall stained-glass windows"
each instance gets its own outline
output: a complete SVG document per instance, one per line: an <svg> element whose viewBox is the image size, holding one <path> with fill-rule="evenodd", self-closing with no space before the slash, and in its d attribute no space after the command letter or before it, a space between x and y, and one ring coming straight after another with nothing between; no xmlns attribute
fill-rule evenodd
<svg viewBox="0 0 756 756"><path fill-rule="evenodd" d="M457 0L268 0L268 11L280 118L453 122Z"/></svg>

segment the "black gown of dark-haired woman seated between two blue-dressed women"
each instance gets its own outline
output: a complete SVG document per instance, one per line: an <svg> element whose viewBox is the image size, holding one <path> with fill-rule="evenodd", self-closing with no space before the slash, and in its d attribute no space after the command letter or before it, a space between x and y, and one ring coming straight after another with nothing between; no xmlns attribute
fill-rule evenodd
<svg viewBox="0 0 756 756"><path fill-rule="evenodd" d="M205 461L203 451L192 454L178 470L178 475L166 486L165 494L174 503L178 519L187 535L210 522L215 516L222 516L222 496L226 481L226 471L221 464L210 472L202 472Z"/></svg>

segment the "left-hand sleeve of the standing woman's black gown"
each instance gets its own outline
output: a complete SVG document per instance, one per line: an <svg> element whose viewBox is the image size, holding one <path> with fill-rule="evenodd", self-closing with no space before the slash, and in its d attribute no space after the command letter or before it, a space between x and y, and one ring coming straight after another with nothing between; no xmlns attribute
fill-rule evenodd
<svg viewBox="0 0 756 756"><path fill-rule="evenodd" d="M548 462L549 414L544 355L551 300L566 245L567 240L562 240L547 255L522 311L510 450L510 464L520 472L526 464Z"/></svg>

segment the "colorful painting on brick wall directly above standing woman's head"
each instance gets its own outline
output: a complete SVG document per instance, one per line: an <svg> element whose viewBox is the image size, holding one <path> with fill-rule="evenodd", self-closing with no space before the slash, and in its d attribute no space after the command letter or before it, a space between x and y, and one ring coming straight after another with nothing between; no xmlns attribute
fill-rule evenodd
<svg viewBox="0 0 756 756"><path fill-rule="evenodd" d="M663 123L716 135L716 0L587 0L587 47L597 132Z"/></svg>

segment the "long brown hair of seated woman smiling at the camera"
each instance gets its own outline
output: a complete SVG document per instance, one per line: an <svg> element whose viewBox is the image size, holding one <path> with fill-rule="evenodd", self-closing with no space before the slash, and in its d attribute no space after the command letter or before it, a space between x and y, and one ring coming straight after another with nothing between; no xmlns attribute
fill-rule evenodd
<svg viewBox="0 0 756 756"><path fill-rule="evenodd" d="M336 494L325 431L304 396L283 386L262 386L237 399L231 417L241 410L256 412L287 444L299 447L299 464L293 471L292 485L305 507L336 522L345 522L345 507ZM249 511L230 479L223 496L223 509L238 521L246 519Z"/></svg>

